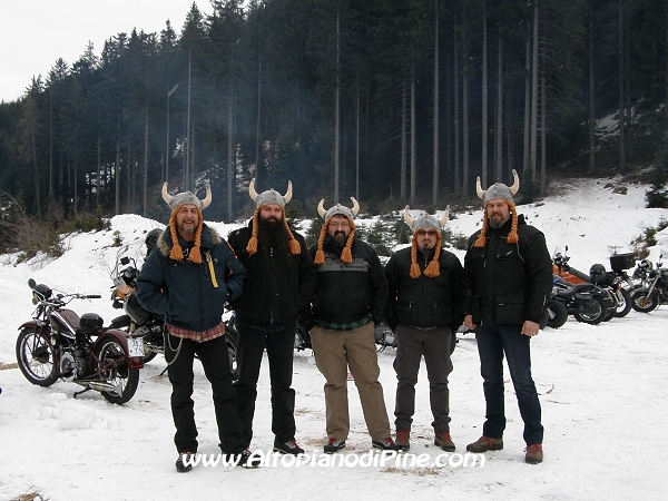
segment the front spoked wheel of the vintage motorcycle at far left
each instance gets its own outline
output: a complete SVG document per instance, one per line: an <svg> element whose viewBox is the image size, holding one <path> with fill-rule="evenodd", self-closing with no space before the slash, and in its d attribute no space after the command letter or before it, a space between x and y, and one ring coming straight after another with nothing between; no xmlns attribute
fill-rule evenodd
<svg viewBox="0 0 668 501"><path fill-rule="evenodd" d="M35 327L23 328L17 338L17 362L28 381L38 386L50 386L58 380L58 364L53 346L46 334Z"/></svg>

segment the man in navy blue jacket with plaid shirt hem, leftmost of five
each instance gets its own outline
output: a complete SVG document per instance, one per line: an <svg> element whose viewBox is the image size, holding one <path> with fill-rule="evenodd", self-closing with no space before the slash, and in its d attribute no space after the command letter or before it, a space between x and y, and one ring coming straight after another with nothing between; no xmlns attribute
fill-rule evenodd
<svg viewBox="0 0 668 501"><path fill-rule="evenodd" d="M148 255L137 278L137 298L148 311L165 316L165 358L171 383L176 469L190 471L197 452L193 395L193 361L198 356L214 394L219 446L240 465L256 465L243 439L243 425L232 385L232 373L222 321L225 303L242 295L246 271L218 233L204 224L200 200L186 191L175 196L163 187L171 208L169 225Z"/></svg>

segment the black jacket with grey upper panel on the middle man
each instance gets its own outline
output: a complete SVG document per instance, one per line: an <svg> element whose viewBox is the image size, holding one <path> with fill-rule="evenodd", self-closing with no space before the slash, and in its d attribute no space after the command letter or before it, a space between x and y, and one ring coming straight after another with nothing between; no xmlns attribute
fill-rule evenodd
<svg viewBox="0 0 668 501"><path fill-rule="evenodd" d="M315 257L317 246L310 249ZM325 264L317 266L317 289L312 307L302 312L302 322L311 330L320 322L350 324L364 320L370 313L374 324L383 317L387 282L379 255L372 246L353 239L353 262L341 262L341 249L330 236L323 243Z"/></svg>

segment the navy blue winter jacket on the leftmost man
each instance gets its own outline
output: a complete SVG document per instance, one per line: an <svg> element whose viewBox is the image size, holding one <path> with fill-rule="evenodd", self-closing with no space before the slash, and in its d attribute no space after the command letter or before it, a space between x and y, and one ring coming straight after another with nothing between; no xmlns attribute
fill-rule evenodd
<svg viewBox="0 0 668 501"><path fill-rule="evenodd" d="M184 256L193 247L179 238ZM171 235L167 228L158 238L137 277L137 298L146 310L165 316L165 322L189 331L206 331L220 324L225 302L238 297L244 288L246 269L218 233L204 225L202 264L169 258ZM210 276L213 261L216 283Z"/></svg>

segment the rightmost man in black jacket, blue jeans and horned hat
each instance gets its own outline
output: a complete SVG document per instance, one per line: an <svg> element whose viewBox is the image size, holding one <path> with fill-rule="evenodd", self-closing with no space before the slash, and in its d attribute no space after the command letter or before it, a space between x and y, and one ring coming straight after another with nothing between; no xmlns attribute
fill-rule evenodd
<svg viewBox="0 0 668 501"><path fill-rule="evenodd" d="M484 202L482 229L469 239L464 258L464 325L475 328L487 421L471 452L503 449L503 355L524 421L524 460L543 458L541 409L531 377L531 337L538 334L552 291L552 262L541 232L518 216L512 196L520 183L501 183L478 196Z"/></svg>

